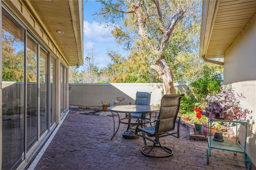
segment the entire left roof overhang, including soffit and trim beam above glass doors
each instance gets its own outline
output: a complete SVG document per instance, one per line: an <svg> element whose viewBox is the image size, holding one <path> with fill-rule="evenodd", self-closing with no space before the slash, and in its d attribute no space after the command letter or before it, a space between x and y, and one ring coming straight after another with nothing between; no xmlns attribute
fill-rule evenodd
<svg viewBox="0 0 256 170"><path fill-rule="evenodd" d="M38 38L44 45L48 45L54 54L60 54L56 57L63 57L71 66L84 64L82 0L6 0L5 3L32 32L39 35ZM22 11L22 6L26 8L26 12ZM40 29L33 24L33 21ZM63 34L57 31L62 31Z"/></svg>

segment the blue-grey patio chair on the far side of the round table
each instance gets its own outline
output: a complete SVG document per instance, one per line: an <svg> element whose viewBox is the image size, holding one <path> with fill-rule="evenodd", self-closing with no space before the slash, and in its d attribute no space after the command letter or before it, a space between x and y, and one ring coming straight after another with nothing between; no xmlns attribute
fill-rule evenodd
<svg viewBox="0 0 256 170"><path fill-rule="evenodd" d="M137 91L135 105L150 105L151 93L152 92ZM147 115L150 115L150 119L151 119L151 114L145 114L145 117ZM126 117L141 119L141 114L140 113L131 113L131 114L127 114ZM129 123L130 123L130 121L131 121L131 119L129 119ZM130 125L128 125L127 130L129 130L129 128L130 128Z"/></svg>

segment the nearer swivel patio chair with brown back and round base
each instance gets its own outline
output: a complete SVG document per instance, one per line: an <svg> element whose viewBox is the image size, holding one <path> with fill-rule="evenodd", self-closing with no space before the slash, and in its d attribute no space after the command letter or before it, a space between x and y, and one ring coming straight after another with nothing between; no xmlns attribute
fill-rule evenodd
<svg viewBox="0 0 256 170"><path fill-rule="evenodd" d="M146 145L145 139L153 142L152 145L143 146L140 151L142 154L152 158L165 158L168 156L172 156L172 149L162 146L160 144L160 138L164 136L172 135L176 138L180 138L180 117L178 117L178 112L180 109L180 99L184 96L182 95L164 95L161 99L161 106L158 117L155 121L150 122L148 120L138 120L138 125L135 129L135 134L137 136L141 136L144 139L144 143ZM175 122L178 118L178 126L175 129ZM154 126L150 127L140 127L140 121L146 121L149 123L154 123ZM139 134L138 132L141 132ZM148 136L145 136L147 134ZM159 145L156 145L159 144ZM150 152L154 147L162 148L167 154L159 155L161 152Z"/></svg>

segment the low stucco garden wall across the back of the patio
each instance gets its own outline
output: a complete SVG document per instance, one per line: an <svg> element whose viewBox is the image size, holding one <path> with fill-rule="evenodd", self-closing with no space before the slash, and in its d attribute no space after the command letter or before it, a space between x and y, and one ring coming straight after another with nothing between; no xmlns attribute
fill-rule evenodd
<svg viewBox="0 0 256 170"><path fill-rule="evenodd" d="M116 97L125 97L122 103L134 104L137 91L148 91L151 93L150 105L160 104L161 98L165 95L163 83L108 83L108 84L70 84L69 105L76 105L84 108L99 108L101 101L113 105ZM187 84L175 83L180 91L187 90Z"/></svg>

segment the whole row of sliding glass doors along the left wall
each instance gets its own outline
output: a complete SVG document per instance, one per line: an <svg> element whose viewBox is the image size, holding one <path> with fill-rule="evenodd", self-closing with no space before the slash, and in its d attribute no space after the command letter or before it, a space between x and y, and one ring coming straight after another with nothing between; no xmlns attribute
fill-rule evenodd
<svg viewBox="0 0 256 170"><path fill-rule="evenodd" d="M2 8L2 167L17 169L56 122L56 59ZM66 97L66 68L62 68ZM66 102L66 99L62 99ZM66 111L66 103L62 102ZM1 142L1 141L0 141Z"/></svg>

